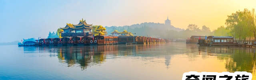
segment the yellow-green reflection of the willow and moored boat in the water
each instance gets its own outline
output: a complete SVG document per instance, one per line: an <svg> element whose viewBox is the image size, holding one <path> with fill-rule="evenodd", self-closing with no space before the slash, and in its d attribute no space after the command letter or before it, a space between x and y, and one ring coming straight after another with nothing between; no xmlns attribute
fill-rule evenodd
<svg viewBox="0 0 256 80"><path fill-rule="evenodd" d="M199 54L217 56L226 61L225 68L230 72L247 71L255 77L256 50L243 47L199 47Z"/></svg>

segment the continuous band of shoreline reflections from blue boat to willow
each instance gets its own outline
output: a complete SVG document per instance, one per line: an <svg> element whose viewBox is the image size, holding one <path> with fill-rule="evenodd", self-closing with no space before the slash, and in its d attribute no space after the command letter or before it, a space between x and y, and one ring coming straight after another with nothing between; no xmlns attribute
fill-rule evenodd
<svg viewBox="0 0 256 80"><path fill-rule="evenodd" d="M247 71L255 73L256 50L255 48L238 47L205 47L196 44L186 44L186 47L177 44L166 46L164 44L150 45L108 45L108 46L41 46L24 47L24 53L50 53L49 57L58 56L60 63L66 63L68 67L79 66L82 70L90 65L100 65L106 59L112 58L136 58L162 57L166 68L170 68L173 55L186 54L188 59L197 60L196 57L207 59L208 56L216 56L218 60L226 62L225 68L230 72ZM44 56L42 54L42 56ZM146 58L143 58L146 57Z"/></svg>

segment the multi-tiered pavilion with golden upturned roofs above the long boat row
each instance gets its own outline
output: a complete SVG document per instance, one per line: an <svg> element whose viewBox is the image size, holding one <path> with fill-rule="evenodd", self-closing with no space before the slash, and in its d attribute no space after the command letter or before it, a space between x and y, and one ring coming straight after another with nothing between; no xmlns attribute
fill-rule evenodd
<svg viewBox="0 0 256 80"><path fill-rule="evenodd" d="M91 26L92 25L87 24L86 21L83 19L80 20L78 25L67 23L67 25L64 28L60 28L64 30L64 32L61 33L61 36L88 36L89 34L91 34Z"/></svg>

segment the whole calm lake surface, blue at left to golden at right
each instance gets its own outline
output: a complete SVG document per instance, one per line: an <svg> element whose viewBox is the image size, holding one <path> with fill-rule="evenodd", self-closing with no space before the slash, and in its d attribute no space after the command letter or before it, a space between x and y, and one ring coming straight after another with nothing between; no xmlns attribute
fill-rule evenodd
<svg viewBox="0 0 256 80"><path fill-rule="evenodd" d="M256 48L197 44L0 46L0 80L181 80L198 72L256 70Z"/></svg>

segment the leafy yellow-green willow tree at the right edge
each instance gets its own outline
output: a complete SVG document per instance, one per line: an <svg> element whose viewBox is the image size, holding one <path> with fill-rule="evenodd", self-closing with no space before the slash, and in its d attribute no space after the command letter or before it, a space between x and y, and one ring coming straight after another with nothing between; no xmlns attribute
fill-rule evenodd
<svg viewBox="0 0 256 80"><path fill-rule="evenodd" d="M256 40L256 16L255 10L244 9L243 11L236 11L228 15L226 19L226 29L229 34L234 36L237 40L246 40L246 38L254 38Z"/></svg>

